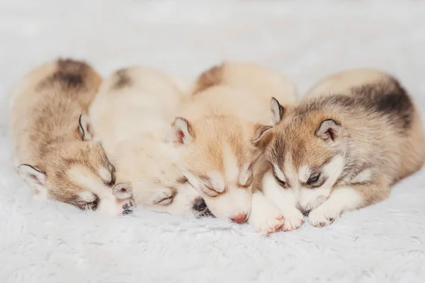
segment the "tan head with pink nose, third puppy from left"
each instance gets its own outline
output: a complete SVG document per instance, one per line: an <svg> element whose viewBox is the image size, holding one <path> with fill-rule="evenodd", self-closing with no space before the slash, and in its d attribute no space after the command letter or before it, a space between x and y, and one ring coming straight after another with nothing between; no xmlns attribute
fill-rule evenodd
<svg viewBox="0 0 425 283"><path fill-rule="evenodd" d="M178 152L176 162L212 214L237 223L247 219L254 166L269 132L271 126L254 125L236 117L174 120L170 141Z"/></svg>

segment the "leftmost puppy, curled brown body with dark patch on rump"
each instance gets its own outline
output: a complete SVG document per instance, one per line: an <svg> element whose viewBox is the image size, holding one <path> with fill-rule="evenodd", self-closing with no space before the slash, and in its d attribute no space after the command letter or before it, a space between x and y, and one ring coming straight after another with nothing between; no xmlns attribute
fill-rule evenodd
<svg viewBox="0 0 425 283"><path fill-rule="evenodd" d="M90 141L86 112L101 83L84 62L58 59L30 71L9 107L15 166L37 197L103 214L131 212L131 187L115 185L115 169Z"/></svg>

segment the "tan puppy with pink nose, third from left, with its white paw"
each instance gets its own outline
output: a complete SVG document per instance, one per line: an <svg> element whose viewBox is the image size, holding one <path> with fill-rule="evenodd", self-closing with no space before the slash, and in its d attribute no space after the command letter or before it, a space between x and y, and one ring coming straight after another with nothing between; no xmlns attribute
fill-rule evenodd
<svg viewBox="0 0 425 283"><path fill-rule="evenodd" d="M284 224L283 213L261 192L272 96L294 103L297 91L277 71L224 62L200 75L171 134L179 168L212 214L237 223L249 219L265 232Z"/></svg>

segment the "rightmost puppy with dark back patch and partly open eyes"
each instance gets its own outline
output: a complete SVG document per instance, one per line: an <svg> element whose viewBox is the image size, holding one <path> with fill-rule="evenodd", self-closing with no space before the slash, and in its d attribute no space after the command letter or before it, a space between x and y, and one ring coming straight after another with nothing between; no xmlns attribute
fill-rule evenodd
<svg viewBox="0 0 425 283"><path fill-rule="evenodd" d="M335 74L280 108L266 156L290 202L313 226L375 204L390 186L421 168L419 112L400 83L373 69ZM276 120L280 120L277 119Z"/></svg>

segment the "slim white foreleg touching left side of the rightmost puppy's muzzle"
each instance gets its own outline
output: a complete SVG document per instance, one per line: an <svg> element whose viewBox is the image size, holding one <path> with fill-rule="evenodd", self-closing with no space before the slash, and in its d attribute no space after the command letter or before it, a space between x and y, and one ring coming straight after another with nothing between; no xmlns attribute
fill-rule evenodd
<svg viewBox="0 0 425 283"><path fill-rule="evenodd" d="M263 194L271 200L285 217L283 231L293 231L300 228L304 223L304 215L297 209L296 192L280 187L273 177L273 173L268 171L264 174L262 182Z"/></svg>

